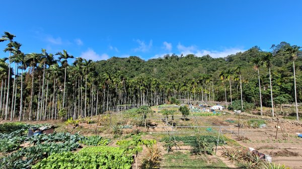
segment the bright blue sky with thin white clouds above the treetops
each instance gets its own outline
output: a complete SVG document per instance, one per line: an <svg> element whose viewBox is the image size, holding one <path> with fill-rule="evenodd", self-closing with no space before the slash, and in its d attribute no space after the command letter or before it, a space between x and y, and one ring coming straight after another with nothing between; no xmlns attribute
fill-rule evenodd
<svg viewBox="0 0 302 169"><path fill-rule="evenodd" d="M65 49L95 61L147 60L172 53L225 57L256 45L269 51L282 41L302 45L302 1L20 0L1 6L1 34L15 34L24 53Z"/></svg>

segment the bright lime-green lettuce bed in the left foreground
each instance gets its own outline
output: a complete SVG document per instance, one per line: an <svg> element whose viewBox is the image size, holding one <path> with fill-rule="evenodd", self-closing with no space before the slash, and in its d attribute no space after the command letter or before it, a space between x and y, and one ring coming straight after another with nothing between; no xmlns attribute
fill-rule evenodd
<svg viewBox="0 0 302 169"><path fill-rule="evenodd" d="M106 168L129 169L133 158L119 147L85 147L79 152L54 153L36 163L32 168Z"/></svg>

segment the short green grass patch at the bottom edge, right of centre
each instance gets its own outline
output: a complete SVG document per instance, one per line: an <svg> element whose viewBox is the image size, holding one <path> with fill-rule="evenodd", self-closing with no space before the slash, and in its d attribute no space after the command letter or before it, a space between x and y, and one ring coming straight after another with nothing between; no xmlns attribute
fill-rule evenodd
<svg viewBox="0 0 302 169"><path fill-rule="evenodd" d="M169 153L164 156L164 160L162 161L161 168L170 168L170 169L199 169L199 168L207 168L207 169L228 169L229 167L225 165L221 160L215 159L215 161L205 161L204 159L196 156L190 156L187 153L175 152Z"/></svg>

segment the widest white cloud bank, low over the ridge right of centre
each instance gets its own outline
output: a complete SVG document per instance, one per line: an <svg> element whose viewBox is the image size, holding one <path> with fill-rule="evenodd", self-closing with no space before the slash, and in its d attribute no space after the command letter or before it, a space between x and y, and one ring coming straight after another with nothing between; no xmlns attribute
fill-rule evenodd
<svg viewBox="0 0 302 169"><path fill-rule="evenodd" d="M196 46L184 46L180 43L177 45L178 51L184 56L188 54L194 54L197 57L202 57L204 55L210 55L212 58L223 58L228 55L236 54L238 52L244 52L245 50L242 48L225 48L222 51L216 50L199 50Z"/></svg>

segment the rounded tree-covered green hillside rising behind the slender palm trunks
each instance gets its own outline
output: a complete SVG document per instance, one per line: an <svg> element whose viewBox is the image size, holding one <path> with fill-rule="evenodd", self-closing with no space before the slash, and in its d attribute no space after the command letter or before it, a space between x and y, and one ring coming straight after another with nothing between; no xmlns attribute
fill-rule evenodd
<svg viewBox="0 0 302 169"><path fill-rule="evenodd" d="M294 102L293 66L291 55L286 52L290 44L282 42L273 46L274 55L271 58L272 88L275 104ZM294 47L294 46L292 46ZM107 61L99 61L96 64L98 73L122 74L129 82L140 82L144 89L165 88L167 91L185 91L204 94L208 88L212 92L212 82L214 89L214 100L224 101L224 83L226 84L226 97L231 101L230 81L233 93L232 99L240 99L239 72L241 68L243 99L247 102L259 103L258 73L262 88L262 98L264 105L269 106L269 71L265 66L265 61L261 60L268 52L263 52L257 46L243 52L230 55L225 58L211 58L209 55L196 57L187 55L180 57L177 55L166 55L164 58L150 59L144 61L138 57L129 58L113 57ZM298 102L302 100L302 69L301 52L297 52L296 83ZM114 77L115 78L115 77ZM113 79L114 79L113 78ZM212 93L210 93L212 94ZM194 97L194 96L193 96ZM204 96L205 97L205 96ZM193 98L194 99L194 98ZM210 98L212 100L212 97Z"/></svg>

